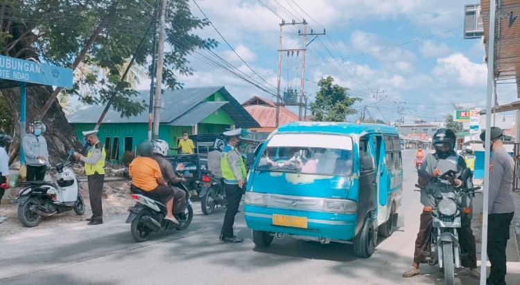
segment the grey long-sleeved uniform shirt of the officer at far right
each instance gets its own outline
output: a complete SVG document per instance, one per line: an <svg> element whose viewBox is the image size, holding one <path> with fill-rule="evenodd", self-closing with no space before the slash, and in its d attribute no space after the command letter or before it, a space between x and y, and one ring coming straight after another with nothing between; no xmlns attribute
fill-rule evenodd
<svg viewBox="0 0 520 285"><path fill-rule="evenodd" d="M514 212L511 196L514 160L505 148L493 151L489 162L489 214Z"/></svg>

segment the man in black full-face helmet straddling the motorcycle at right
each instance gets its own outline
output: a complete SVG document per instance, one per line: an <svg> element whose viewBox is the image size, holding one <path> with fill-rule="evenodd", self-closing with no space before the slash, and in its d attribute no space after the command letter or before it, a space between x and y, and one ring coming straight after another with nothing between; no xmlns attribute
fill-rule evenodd
<svg viewBox="0 0 520 285"><path fill-rule="evenodd" d="M421 170L430 174L430 177L446 175L449 182L455 187L462 187L463 182L459 176L462 170L466 169L466 162L453 149L455 148L456 135L451 129L438 129L433 135L433 147L435 154L428 154ZM426 185L428 181L419 178L420 185ZM423 253L428 251L428 243L431 239L431 224L433 216L432 207L435 206L435 199L428 193L421 192L421 203L424 205L421 214L421 224L419 233L415 240L415 252L413 264L403 273L403 277L413 277L420 274L419 264L423 263ZM462 215L462 227L458 228L460 249L467 254L466 259L462 259L462 266L470 268L471 277L480 278L480 271L476 267L476 244L475 236L471 230L471 218L467 214Z"/></svg>

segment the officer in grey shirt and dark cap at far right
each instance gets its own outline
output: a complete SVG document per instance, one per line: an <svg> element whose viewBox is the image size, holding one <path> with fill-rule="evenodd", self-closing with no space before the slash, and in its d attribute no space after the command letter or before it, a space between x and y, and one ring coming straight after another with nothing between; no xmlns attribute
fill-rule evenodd
<svg viewBox="0 0 520 285"><path fill-rule="evenodd" d="M486 279L486 284L505 285L505 248L514 214L511 196L514 161L503 147L502 129L492 127L489 135L493 156L489 162L487 256L491 263L491 272ZM485 131L480 134L480 140L485 142Z"/></svg>

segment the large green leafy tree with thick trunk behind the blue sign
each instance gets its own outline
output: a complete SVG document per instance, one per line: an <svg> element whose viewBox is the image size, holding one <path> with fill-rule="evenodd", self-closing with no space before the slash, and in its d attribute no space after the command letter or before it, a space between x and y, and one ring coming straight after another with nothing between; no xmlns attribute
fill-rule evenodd
<svg viewBox="0 0 520 285"><path fill-rule="evenodd" d="M78 67L68 95L77 95L83 104L105 105L116 93L112 109L121 116L135 116L146 108L146 102L135 102L132 76L121 81L125 64L136 55L135 64L148 68L153 53L151 26L155 21L158 0L5 0L0 3L0 54L17 58L33 58L58 66ZM198 30L209 24L191 14L188 0L168 1L166 11L166 48L163 83L165 88L180 89L179 75L191 75L187 56L198 49L217 46L214 39L203 39ZM144 39L143 46L136 53ZM89 42L94 40L92 48ZM80 51L87 53L83 57ZM78 59L78 60L76 60ZM103 72L97 72L103 71ZM78 72L76 71L76 75ZM85 86L88 92L84 92ZM10 114L19 111L19 90L3 89ZM51 97L51 86L34 86L27 91L27 119L37 117L42 105ZM72 127L54 100L42 118L47 125L51 156L78 147ZM15 128L18 128L15 125ZM24 131L24 130L22 130ZM17 149L15 147L14 149Z"/></svg>

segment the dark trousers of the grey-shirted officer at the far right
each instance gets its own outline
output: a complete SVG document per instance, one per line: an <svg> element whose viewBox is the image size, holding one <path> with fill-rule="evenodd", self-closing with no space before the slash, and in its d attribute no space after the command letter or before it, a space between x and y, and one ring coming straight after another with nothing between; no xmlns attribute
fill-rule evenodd
<svg viewBox="0 0 520 285"><path fill-rule="evenodd" d="M488 280L492 284L505 284L505 273L507 271L505 248L508 246L509 227L513 214L514 212L489 214L487 216L487 256L491 263Z"/></svg>

